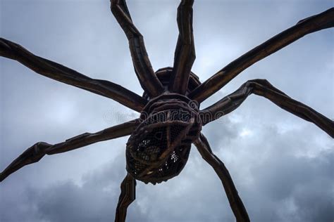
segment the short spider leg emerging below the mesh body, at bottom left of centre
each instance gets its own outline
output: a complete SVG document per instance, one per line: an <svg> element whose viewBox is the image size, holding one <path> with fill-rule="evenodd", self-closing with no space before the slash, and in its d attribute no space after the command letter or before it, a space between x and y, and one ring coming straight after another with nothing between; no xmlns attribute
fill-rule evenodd
<svg viewBox="0 0 334 222"><path fill-rule="evenodd" d="M120 197L116 208L115 222L125 222L126 211L136 199L136 180L130 174L120 184Z"/></svg>

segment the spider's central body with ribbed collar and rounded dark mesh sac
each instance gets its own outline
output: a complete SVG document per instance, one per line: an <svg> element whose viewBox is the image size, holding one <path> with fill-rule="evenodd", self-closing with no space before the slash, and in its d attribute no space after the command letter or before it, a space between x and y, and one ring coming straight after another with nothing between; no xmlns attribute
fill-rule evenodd
<svg viewBox="0 0 334 222"><path fill-rule="evenodd" d="M202 128L197 104L185 96L166 94L151 100L141 119L127 143L128 172L153 184L180 174Z"/></svg>

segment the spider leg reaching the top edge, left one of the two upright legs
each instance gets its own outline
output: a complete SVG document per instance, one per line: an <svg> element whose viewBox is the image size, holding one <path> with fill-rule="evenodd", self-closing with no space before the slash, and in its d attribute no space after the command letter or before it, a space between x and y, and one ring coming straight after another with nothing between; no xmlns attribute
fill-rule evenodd
<svg viewBox="0 0 334 222"><path fill-rule="evenodd" d="M142 89L147 91L151 98L158 96L164 91L163 86L154 73L145 49L144 38L133 24L125 0L111 0L111 12L128 38L132 63Z"/></svg>

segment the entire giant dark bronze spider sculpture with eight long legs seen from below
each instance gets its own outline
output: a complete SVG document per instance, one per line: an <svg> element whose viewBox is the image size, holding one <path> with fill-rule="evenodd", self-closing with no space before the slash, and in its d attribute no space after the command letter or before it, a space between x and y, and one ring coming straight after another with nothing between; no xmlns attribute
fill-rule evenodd
<svg viewBox="0 0 334 222"><path fill-rule="evenodd" d="M187 163L190 146L194 143L221 179L236 220L250 221L228 169L214 155L201 133L202 126L232 112L252 93L264 96L284 110L316 124L332 138L334 122L311 107L293 100L265 79L247 81L237 91L203 110L199 109L199 105L262 58L306 34L333 27L334 9L330 8L318 15L300 20L296 25L256 46L201 83L191 72L195 60L193 4L194 0L182 0L178 7L179 37L173 67L154 72L143 37L132 23L125 0L111 0L111 11L128 37L135 73L144 89L143 96L138 96L110 81L91 79L68 67L33 55L22 46L1 38L1 56L17 60L51 79L116 100L140 112L140 118L97 133L83 133L63 143L36 143L1 172L0 181L4 181L7 176L25 165L38 162L44 155L67 152L99 141L131 135L126 145L128 175L120 185L121 193L115 218L115 221L125 221L127 208L135 200L136 180L156 184L178 176Z"/></svg>

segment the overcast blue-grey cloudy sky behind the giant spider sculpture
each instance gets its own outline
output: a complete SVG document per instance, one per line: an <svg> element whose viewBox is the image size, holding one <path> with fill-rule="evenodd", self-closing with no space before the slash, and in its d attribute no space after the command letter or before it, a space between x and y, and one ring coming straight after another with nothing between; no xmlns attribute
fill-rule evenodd
<svg viewBox="0 0 334 222"><path fill-rule="evenodd" d="M173 65L180 1L128 1L155 70ZM142 93L125 34L109 1L0 0L1 37L33 53ZM204 81L266 39L321 13L333 1L207 1L194 4L197 60ZM287 95L334 117L334 32L310 34L261 60L205 101L248 79L268 79ZM0 58L0 170L37 141L59 143L137 117L122 105L58 83ZM265 98L250 96L203 132L230 170L252 221L333 221L333 139ZM0 184L0 221L113 221L125 176L118 138L25 166ZM180 176L137 183L128 221L234 221L211 166L192 148Z"/></svg>

